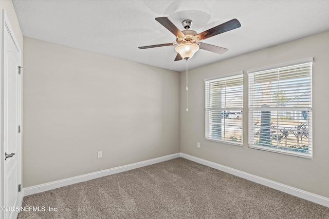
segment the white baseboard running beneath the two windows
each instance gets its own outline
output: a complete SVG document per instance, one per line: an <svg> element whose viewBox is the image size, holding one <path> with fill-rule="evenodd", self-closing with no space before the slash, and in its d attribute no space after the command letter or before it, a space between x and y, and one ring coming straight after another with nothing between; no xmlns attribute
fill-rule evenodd
<svg viewBox="0 0 329 219"><path fill-rule="evenodd" d="M255 182L255 183L258 183L258 184L261 184L261 185L264 185L264 186L267 186L267 187L270 187L270 188L273 188L273 189L276 189L276 190L279 190L279 191L282 191L282 192L285 192L285 193L288 193L288 194L291 194L291 195L294 195L294 196L297 196L300 198L303 198L307 201L314 202L319 205L329 207L329 198L327 198L327 197L317 195L317 194L314 194L311 192L307 192L307 191L304 191L301 189L297 189L297 188L294 188L291 186L287 186L287 185L284 185L284 184L281 184L281 183L278 183L275 181L267 180L266 178L259 177L257 175L252 175L252 174L240 171L240 170L236 170L236 169L226 167L226 166L223 166L220 164L216 164L216 163L213 163L213 162L210 162L207 160L203 160L201 158L191 156L191 155L188 155L185 153L180 153L180 156L183 158L186 158L187 160L190 160L190 161L193 161L193 162L196 162L199 164L203 164L205 166L208 166L208 167L211 167L211 168L214 168L217 170L221 170L223 172L227 172L232 175L239 176L241 178L245 178L246 180L249 180L249 181L252 181L252 182Z"/></svg>

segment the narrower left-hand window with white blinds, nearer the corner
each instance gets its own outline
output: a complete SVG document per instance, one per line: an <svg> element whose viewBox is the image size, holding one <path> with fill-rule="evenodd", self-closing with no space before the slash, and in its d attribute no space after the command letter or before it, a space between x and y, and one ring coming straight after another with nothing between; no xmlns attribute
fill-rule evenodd
<svg viewBox="0 0 329 219"><path fill-rule="evenodd" d="M242 145L242 73L205 78L206 140Z"/></svg>

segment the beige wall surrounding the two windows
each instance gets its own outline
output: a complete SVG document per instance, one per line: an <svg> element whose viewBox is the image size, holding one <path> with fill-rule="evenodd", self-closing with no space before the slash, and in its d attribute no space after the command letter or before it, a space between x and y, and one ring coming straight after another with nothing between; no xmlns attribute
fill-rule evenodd
<svg viewBox="0 0 329 219"><path fill-rule="evenodd" d="M329 197L329 32L255 51L189 71L189 112L186 113L186 72L180 82L180 151L272 181ZM228 51L229 52L229 51ZM314 57L313 160L248 148L246 70ZM193 57L194 58L194 57ZM193 58L190 62L193 62ZM195 57L196 58L196 57ZM244 71L243 147L205 140L204 78ZM196 144L200 142L201 147Z"/></svg>

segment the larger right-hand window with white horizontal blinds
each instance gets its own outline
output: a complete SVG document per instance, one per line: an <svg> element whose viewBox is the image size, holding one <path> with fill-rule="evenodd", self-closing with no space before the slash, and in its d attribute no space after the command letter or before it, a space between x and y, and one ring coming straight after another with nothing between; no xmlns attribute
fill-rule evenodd
<svg viewBox="0 0 329 219"><path fill-rule="evenodd" d="M250 148L312 158L312 62L247 71Z"/></svg>

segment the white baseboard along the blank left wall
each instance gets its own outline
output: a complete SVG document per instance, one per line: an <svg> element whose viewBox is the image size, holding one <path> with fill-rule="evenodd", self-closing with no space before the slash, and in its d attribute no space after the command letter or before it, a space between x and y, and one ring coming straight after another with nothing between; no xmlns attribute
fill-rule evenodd
<svg viewBox="0 0 329 219"><path fill-rule="evenodd" d="M114 168L107 169L107 170L102 170L102 171L97 171L97 172L79 175L79 176L75 176L75 177L65 178L64 180L59 180L59 181L54 181L54 182L50 182L50 183L45 183L45 184L41 184L41 185L23 188L22 192L23 192L24 196L27 196L27 195L31 195L31 194L35 194L35 193L39 193L39 192L48 191L51 189L60 188L63 186L81 183L81 182L88 181L88 180L94 180L95 178L99 178L102 176L120 173L120 172L132 170L132 169L136 169L136 168L140 168L140 167L144 167L144 166L148 166L151 164L156 164L156 163L160 163L160 162L164 162L164 161L169 161L169 160L172 160L179 156L180 156L180 153L175 153L175 154L170 154L167 156L157 157L157 158L147 160L147 161L137 162L134 164L128 164L128 165L114 167Z"/></svg>

